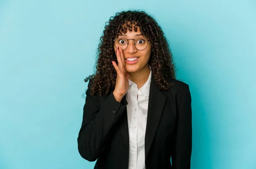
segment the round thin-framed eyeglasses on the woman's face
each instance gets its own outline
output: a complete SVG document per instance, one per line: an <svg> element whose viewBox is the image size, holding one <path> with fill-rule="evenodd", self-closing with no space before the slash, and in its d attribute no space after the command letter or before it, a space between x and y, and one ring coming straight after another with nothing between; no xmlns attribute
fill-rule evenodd
<svg viewBox="0 0 256 169"><path fill-rule="evenodd" d="M145 37L137 37L136 39L126 39L125 37L117 37L114 40L114 45L117 48L118 46L122 48L122 50L125 50L129 44L128 40L134 40L134 46L139 51L144 50L148 46L148 40Z"/></svg>

